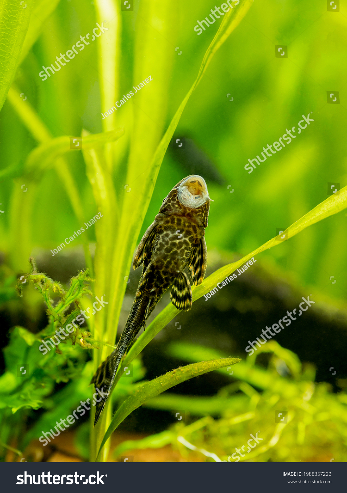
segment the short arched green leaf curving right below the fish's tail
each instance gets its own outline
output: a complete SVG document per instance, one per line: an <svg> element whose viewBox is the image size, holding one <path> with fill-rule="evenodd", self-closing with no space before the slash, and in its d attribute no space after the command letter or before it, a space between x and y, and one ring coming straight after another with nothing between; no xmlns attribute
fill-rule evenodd
<svg viewBox="0 0 347 493"><path fill-rule="evenodd" d="M161 377L155 378L140 386L135 390L134 394L128 397L117 409L115 416L103 438L100 445L100 450L106 441L110 438L116 427L132 413L135 409L144 404L148 399L164 392L165 390L174 387L175 385L185 382L193 377L198 377L209 371L218 370L227 366L234 365L241 361L239 358L220 358L210 361L201 361L191 365L179 367L173 371L165 373ZM100 454L100 450L98 455Z"/></svg>

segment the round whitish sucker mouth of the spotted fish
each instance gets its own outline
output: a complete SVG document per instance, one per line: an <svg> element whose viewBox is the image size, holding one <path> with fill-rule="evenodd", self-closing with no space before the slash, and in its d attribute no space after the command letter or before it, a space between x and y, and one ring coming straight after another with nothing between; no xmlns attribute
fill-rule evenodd
<svg viewBox="0 0 347 493"><path fill-rule="evenodd" d="M187 176L175 188L177 188L178 200L185 207L196 209L205 202L212 201L208 195L206 181L202 176Z"/></svg>

